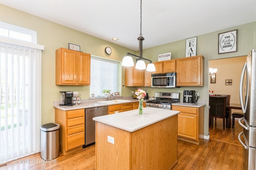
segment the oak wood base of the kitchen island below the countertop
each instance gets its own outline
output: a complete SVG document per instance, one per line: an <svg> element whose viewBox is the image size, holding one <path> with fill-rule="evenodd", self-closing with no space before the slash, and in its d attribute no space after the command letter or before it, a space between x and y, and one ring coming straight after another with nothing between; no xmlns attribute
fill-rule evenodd
<svg viewBox="0 0 256 170"><path fill-rule="evenodd" d="M96 121L96 170L170 170L178 163L177 115L128 132ZM114 144L107 141L114 138Z"/></svg>

